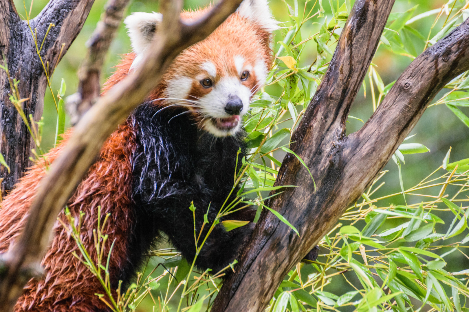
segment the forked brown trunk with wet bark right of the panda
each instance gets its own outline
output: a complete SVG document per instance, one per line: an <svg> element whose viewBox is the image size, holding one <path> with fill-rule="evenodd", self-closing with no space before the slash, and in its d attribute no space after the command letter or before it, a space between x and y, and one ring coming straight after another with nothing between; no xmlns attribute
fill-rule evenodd
<svg viewBox="0 0 469 312"><path fill-rule="evenodd" d="M376 50L393 0L356 1L331 65L295 131L293 150L313 174L288 154L267 203L299 231L295 235L264 211L236 273L223 284L212 312L263 311L287 272L336 224L372 182L451 79L469 69L469 22L431 46L402 73L370 120L345 136L349 108Z"/></svg>

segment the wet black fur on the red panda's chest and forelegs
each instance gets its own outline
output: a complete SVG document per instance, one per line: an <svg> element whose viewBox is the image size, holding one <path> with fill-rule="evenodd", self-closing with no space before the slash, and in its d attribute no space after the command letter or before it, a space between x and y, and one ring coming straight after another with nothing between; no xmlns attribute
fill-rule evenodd
<svg viewBox="0 0 469 312"><path fill-rule="evenodd" d="M212 222L229 196L234 183L236 159L239 158L240 166L246 152L242 133L237 137L214 137L198 130L189 114L176 116L181 112L170 109L159 111L151 104L144 103L132 116L137 138L136 152L131 157L134 177L132 197L137 216L136 228L129 240L134 249L129 255L134 258L129 259L132 263L142 260L141 254L151 247L161 231L188 261L192 261L195 242L190 203L193 202L197 208L198 232L209 205L208 219ZM233 194L231 197L234 198ZM236 231L226 232L221 224L216 229L211 234L216 238L206 241L197 258L196 265L200 268L215 270L232 260L236 251L227 249L227 246L220 247L220 243L233 244L234 249L241 244L233 241Z"/></svg>

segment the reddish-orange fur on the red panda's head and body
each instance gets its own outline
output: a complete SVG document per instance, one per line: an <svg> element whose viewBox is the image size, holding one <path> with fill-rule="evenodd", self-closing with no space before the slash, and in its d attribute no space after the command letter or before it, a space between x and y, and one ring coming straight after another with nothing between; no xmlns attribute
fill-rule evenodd
<svg viewBox="0 0 469 312"><path fill-rule="evenodd" d="M194 17L201 12L186 12L183 13L183 17ZM233 37L243 39L236 43L227 42L227 40L233 40ZM224 67L217 62L223 62L226 58L233 59L234 52L242 54L249 62L254 62L254 58L260 56L269 66L272 62L268 46L269 38L270 34L257 27L256 24L250 23L237 14L230 16L204 42L188 48L175 59L162 82L151 94L151 98L160 97L165 89L166 81L174 75L182 72L195 74L200 71L199 65L207 57L213 60L217 68ZM237 47L237 51L230 50L233 44ZM127 75L134 58L133 53L125 55L121 64L118 65L116 73L107 81L104 92ZM235 68L233 67L231 70L235 70ZM254 87L254 78L246 81L251 87ZM200 86L193 86L191 92L193 94L200 93L198 88ZM69 135L67 134L66 137ZM129 231L135 222L131 200L132 167L129 160L129 155L132 154L135 146L134 129L130 123L121 125L107 139L98 161L89 169L88 175L68 202L73 216L77 217L81 210L84 212L82 239L93 258L96 258L96 253L94 252L92 230L97 226L98 205L101 206L102 216L111 213L104 232L109 235L106 252L111 242L116 239L110 265L110 274L114 279L118 275L118 271L128 262L126 242ZM48 152L48 160L53 161L61 152L62 147L63 144ZM45 169L42 166L33 166L19 181L15 189L1 202L0 253L6 252L20 234L38 188L38 182L44 175ZM65 223L67 222L63 212L59 218ZM102 217L103 219L104 217ZM72 255L73 251L79 254L74 239L59 222L54 225L53 234L51 246L42 261L45 278L31 279L27 283L23 295L15 305L15 312L96 312L106 310L106 305L94 295L96 292L103 292L98 280Z"/></svg>

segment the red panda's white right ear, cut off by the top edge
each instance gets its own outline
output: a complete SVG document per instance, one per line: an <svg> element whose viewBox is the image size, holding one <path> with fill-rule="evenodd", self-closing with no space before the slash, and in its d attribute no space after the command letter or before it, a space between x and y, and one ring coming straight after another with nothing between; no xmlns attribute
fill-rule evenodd
<svg viewBox="0 0 469 312"><path fill-rule="evenodd" d="M272 16L267 0L244 0L240 4L238 12L242 17L256 22L268 32L280 28L279 22Z"/></svg>

